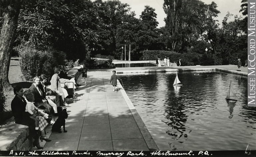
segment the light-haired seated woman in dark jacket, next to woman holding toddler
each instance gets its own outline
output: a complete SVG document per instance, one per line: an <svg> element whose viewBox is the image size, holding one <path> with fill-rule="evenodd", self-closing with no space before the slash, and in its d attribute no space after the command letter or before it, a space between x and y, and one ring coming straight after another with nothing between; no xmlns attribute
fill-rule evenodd
<svg viewBox="0 0 256 157"><path fill-rule="evenodd" d="M31 90L32 94L34 95L35 101L34 101L34 105L37 108L41 108L44 109L44 112L52 115L53 119L51 120L50 124L53 124L54 121L54 109L51 105L49 105L47 103L47 99L45 99L43 97L43 92L41 89L38 88L38 85L40 83L40 78L38 76L33 78L33 82L32 85L29 87L29 89Z"/></svg>

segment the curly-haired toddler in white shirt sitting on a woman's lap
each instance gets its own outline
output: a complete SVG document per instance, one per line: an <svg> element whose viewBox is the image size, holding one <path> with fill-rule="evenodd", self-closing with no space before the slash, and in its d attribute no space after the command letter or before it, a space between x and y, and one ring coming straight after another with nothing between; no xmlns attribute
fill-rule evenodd
<svg viewBox="0 0 256 157"><path fill-rule="evenodd" d="M24 95L26 96L26 99L27 99L25 113L28 114L29 117L35 121L35 126L36 126L35 129L36 129L36 131L39 131L39 127L38 127L39 119L37 118L37 116L42 116L45 119L48 119L48 116L46 113L38 111L37 107L33 103L35 98L31 92L25 91Z"/></svg>

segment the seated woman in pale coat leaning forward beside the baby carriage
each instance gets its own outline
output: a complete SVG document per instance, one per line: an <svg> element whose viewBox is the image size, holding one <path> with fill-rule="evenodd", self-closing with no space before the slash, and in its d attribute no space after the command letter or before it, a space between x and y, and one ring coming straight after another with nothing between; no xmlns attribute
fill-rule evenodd
<svg viewBox="0 0 256 157"><path fill-rule="evenodd" d="M51 85L49 86L50 89L55 93L55 94L59 94L61 93L61 97L62 97L62 103L63 105L66 105L66 97L68 96L68 92L65 88L62 88L61 85L60 85L60 79L59 79L59 74L60 74L60 69L59 68L56 68L54 70L54 75L52 76L51 78Z"/></svg>

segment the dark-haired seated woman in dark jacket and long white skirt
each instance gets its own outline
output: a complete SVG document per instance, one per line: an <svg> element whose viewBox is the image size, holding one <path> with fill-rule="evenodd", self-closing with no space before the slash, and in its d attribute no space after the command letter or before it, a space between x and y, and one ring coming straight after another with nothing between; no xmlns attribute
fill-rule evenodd
<svg viewBox="0 0 256 157"><path fill-rule="evenodd" d="M53 107L54 113L57 113L57 105L51 99L49 99L48 96L46 97L46 95L49 95L49 93L46 92L46 86L44 85L44 83L46 83L47 80L47 76L42 74L40 76L40 83L38 84L38 88L41 89L41 91L43 92L44 99L47 99L49 105Z"/></svg>

